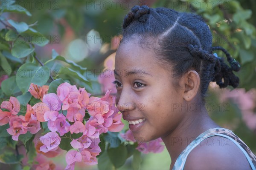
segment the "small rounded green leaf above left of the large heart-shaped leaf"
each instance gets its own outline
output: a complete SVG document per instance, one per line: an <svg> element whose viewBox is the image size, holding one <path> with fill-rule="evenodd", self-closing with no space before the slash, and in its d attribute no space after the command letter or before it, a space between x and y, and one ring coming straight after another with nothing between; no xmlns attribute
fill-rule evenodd
<svg viewBox="0 0 256 170"><path fill-rule="evenodd" d="M11 53L13 56L17 58L24 58L31 54L35 50L34 47L30 47L29 44L27 43L16 43L12 50Z"/></svg>

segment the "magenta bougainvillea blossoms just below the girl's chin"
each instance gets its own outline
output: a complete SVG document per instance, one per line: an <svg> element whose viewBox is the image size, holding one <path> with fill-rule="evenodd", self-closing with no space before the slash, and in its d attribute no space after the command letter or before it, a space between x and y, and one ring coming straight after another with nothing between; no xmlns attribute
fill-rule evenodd
<svg viewBox="0 0 256 170"><path fill-rule="evenodd" d="M126 133L121 133L120 135L126 141L133 141L133 142L136 141L134 139L134 136L132 135L131 130L128 130ZM139 142L138 147L136 147L136 149L145 154L160 153L164 150L164 145L161 143L163 143L161 138L157 138L157 139L155 139L153 141L149 141L149 142Z"/></svg>

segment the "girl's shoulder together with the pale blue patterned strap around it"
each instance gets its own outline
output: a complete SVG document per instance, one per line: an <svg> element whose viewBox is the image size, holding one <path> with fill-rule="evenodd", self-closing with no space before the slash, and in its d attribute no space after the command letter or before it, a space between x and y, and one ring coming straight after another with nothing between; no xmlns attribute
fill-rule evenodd
<svg viewBox="0 0 256 170"><path fill-rule="evenodd" d="M255 155L237 135L225 128L214 128L199 135L183 150L175 162L174 169L255 169L255 167Z"/></svg>

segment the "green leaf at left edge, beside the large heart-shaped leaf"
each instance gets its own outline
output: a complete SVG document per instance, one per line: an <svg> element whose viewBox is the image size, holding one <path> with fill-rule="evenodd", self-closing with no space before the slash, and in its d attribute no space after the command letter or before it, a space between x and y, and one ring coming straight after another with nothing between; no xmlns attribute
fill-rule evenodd
<svg viewBox="0 0 256 170"><path fill-rule="evenodd" d="M9 77L4 80L1 84L1 88L3 90L3 93L7 96L11 96L17 92L20 92L20 89L16 84L15 76Z"/></svg>

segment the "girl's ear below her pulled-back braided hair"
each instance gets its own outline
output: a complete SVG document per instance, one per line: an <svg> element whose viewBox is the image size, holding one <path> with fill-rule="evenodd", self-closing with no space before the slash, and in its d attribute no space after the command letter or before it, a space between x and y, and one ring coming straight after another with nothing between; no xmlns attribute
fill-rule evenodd
<svg viewBox="0 0 256 170"><path fill-rule="evenodd" d="M200 87L200 77L195 70L190 70L181 78L180 85L183 87L183 98L191 101L198 93Z"/></svg>

